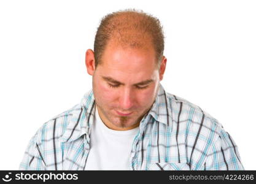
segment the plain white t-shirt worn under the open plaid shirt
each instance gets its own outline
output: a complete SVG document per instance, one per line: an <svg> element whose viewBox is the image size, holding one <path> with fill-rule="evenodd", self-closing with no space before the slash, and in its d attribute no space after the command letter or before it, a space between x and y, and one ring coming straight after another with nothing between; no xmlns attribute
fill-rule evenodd
<svg viewBox="0 0 256 184"><path fill-rule="evenodd" d="M127 131L107 128L96 107L85 170L130 170L131 146L138 131L139 127Z"/></svg>

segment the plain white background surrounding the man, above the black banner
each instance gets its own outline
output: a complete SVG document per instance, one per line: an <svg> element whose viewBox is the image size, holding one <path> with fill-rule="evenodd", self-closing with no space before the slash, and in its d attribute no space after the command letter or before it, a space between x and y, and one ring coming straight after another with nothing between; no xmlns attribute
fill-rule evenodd
<svg viewBox="0 0 256 184"><path fill-rule="evenodd" d="M222 123L256 169L256 1L0 1L0 169L16 170L29 139L91 88L85 51L101 18L136 8L164 26L162 85Z"/></svg>

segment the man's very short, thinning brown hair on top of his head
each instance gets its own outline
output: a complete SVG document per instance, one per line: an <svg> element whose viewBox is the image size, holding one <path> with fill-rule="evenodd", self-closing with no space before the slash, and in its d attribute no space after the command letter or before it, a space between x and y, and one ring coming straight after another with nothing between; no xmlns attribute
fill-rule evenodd
<svg viewBox="0 0 256 184"><path fill-rule="evenodd" d="M142 10L126 9L109 13L102 18L96 32L95 68L101 63L101 56L109 40L131 48L152 44L159 67L165 48L164 38L163 27L158 18Z"/></svg>

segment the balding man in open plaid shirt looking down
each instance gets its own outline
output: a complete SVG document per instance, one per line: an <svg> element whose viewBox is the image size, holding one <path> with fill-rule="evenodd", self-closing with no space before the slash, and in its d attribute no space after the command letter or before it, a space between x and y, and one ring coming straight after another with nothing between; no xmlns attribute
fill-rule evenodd
<svg viewBox="0 0 256 184"><path fill-rule="evenodd" d="M85 63L93 89L36 132L21 170L243 170L238 148L197 105L166 93L164 36L136 10L103 18Z"/></svg>

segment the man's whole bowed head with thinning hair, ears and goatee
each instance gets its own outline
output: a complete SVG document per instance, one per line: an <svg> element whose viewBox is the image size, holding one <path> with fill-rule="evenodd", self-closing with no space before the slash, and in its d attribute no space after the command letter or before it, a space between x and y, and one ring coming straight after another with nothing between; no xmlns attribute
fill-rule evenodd
<svg viewBox="0 0 256 184"><path fill-rule="evenodd" d="M165 72L163 48L157 18L136 10L103 18L95 52L87 50L85 61L88 74L93 75L99 115L109 128L135 128L150 109Z"/></svg>

